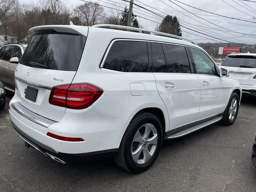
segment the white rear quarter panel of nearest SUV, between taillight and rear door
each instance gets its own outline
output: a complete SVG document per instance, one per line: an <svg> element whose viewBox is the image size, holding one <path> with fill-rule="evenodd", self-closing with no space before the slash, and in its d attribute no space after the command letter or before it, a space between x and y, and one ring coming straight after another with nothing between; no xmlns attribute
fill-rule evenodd
<svg viewBox="0 0 256 192"><path fill-rule="evenodd" d="M134 39L133 34L126 33L116 36L115 33L106 33L95 28L89 28L84 53L72 83L84 82L102 88L104 93L93 106L102 114L126 122L130 122L134 115L144 108L160 108L165 116L165 130L168 131L168 112L158 94L153 73L124 73L100 68L102 58L110 42L115 38ZM134 82L144 84L144 95L131 95L130 83Z"/></svg>

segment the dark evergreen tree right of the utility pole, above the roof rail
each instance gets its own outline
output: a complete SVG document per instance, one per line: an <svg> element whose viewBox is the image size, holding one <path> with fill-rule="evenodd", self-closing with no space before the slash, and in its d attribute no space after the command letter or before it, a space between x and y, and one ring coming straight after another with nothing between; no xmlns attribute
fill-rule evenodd
<svg viewBox="0 0 256 192"><path fill-rule="evenodd" d="M177 36L182 36L180 23L176 16L166 15L157 29L159 32L169 33Z"/></svg>

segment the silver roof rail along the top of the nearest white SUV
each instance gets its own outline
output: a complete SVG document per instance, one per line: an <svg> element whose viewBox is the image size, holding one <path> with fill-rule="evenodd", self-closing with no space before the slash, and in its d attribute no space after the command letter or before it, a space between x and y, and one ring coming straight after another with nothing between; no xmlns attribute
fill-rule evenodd
<svg viewBox="0 0 256 192"><path fill-rule="evenodd" d="M139 31L139 32L145 33L145 34L151 34L152 33L152 34L156 34L156 35L167 36L167 37L176 38L176 39L180 39L180 40L185 40L185 41L188 41L190 43L196 44L196 43L192 42L191 40L185 39L185 38L177 36L177 35L172 35L172 34L168 34L168 33L152 31L152 30L147 30L147 29L141 29L141 28L136 28L136 27L128 27L128 26L112 25L112 24L98 24L98 25L93 25L91 27L107 28L107 29L111 29L111 28L112 29L128 29L128 30Z"/></svg>

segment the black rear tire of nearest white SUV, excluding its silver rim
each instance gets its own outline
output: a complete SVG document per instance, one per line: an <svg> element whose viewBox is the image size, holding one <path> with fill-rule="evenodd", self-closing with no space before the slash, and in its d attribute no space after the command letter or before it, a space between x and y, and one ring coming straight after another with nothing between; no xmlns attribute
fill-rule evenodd
<svg viewBox="0 0 256 192"><path fill-rule="evenodd" d="M144 124L152 124L154 126L154 128L157 130L158 140L155 152L152 155L149 162L145 164L137 164L132 158L132 143L135 134L138 132L140 128L143 127ZM145 170L150 168L150 166L152 166L152 164L156 160L160 152L162 140L163 133L160 120L154 114L142 112L136 115L128 125L128 128L126 129L126 132L124 133L124 136L120 143L118 154L116 154L116 156L114 157L114 161L118 166L120 166L124 170L127 170L128 172L144 172ZM148 147L148 150L149 148L150 147Z"/></svg>

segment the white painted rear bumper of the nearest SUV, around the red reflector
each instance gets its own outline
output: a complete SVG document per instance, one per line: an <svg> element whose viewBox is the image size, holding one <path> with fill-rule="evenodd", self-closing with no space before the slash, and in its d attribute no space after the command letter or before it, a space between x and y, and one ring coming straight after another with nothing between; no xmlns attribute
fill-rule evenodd
<svg viewBox="0 0 256 192"><path fill-rule="evenodd" d="M117 149L129 124L101 114L91 106L86 111L66 109L65 115L60 122L56 122L46 128L14 110L12 103L15 102L18 101L14 97L10 102L9 114L16 130L23 132L24 134L22 135L26 134L25 137L28 142L33 142L36 146L39 146L39 149L43 148L43 151L48 150L53 153L58 152L56 154L83 156L83 154L97 154L105 150ZM68 142L58 140L47 136L47 132L64 137L82 138L84 141Z"/></svg>

